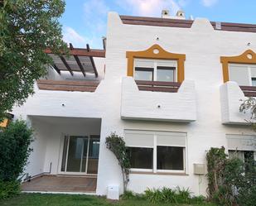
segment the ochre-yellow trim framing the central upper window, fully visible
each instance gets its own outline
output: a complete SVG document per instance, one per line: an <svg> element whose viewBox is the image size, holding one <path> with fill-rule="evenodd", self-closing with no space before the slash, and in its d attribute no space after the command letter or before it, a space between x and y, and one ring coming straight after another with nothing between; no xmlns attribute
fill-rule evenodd
<svg viewBox="0 0 256 206"><path fill-rule="evenodd" d="M157 59L157 60L176 60L177 61L177 81L182 83L184 80L184 61L186 55L170 53L162 49L159 45L153 45L147 50L141 51L127 51L126 57L128 58L127 75L133 76L134 58L142 59Z"/></svg>

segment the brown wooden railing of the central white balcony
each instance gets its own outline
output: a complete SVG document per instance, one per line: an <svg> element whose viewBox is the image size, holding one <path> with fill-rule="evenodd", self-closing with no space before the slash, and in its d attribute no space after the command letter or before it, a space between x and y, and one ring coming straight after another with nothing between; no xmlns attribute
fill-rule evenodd
<svg viewBox="0 0 256 206"><path fill-rule="evenodd" d="M176 93L181 86L178 82L142 81L136 80L138 89L142 91Z"/></svg>

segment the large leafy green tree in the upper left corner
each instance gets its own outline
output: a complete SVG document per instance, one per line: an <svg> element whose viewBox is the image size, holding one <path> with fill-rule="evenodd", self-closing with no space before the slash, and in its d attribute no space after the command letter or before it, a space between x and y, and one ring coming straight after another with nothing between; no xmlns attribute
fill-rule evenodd
<svg viewBox="0 0 256 206"><path fill-rule="evenodd" d="M63 0L0 0L0 119L46 74L52 60L44 50L66 52L58 22L64 10Z"/></svg>

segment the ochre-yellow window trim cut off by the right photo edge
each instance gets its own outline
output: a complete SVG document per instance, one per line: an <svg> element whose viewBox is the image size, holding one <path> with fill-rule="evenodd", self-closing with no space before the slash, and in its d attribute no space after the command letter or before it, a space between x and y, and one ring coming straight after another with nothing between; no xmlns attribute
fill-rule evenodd
<svg viewBox="0 0 256 206"><path fill-rule="evenodd" d="M223 81L229 81L229 64L256 64L256 53L253 50L245 50L242 55L220 56L222 64Z"/></svg>

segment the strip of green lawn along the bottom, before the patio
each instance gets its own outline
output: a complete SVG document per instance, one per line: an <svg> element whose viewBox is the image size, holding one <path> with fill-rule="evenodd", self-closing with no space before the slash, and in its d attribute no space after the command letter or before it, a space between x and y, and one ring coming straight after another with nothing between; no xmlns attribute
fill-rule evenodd
<svg viewBox="0 0 256 206"><path fill-rule="evenodd" d="M1 206L187 206L189 204L152 204L144 199L111 201L103 197L79 194L20 194L15 198L0 200ZM191 204L215 206L215 204Z"/></svg>

